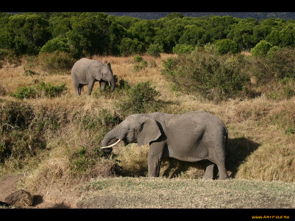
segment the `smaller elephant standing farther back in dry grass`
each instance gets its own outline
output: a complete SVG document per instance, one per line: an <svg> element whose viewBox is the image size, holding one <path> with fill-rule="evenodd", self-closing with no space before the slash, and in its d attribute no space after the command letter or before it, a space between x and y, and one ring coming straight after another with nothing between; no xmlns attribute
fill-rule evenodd
<svg viewBox="0 0 295 221"><path fill-rule="evenodd" d="M81 95L84 85L88 85L87 95L91 95L94 82L96 81L99 81L101 90L104 90L106 81L112 84L111 93L116 87L115 78L109 62L105 65L98 60L82 58L73 65L71 74L76 95Z"/></svg>

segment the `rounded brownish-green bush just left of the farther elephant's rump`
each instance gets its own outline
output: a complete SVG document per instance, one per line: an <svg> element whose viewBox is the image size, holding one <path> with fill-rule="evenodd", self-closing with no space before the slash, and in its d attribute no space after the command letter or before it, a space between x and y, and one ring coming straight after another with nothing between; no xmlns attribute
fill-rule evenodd
<svg viewBox="0 0 295 221"><path fill-rule="evenodd" d="M37 63L48 74L70 73L76 60L66 52L40 53Z"/></svg>

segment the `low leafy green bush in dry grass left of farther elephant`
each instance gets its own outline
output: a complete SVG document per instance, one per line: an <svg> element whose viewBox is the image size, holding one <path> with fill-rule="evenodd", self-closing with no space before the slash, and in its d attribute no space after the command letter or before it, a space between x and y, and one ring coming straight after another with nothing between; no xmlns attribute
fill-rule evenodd
<svg viewBox="0 0 295 221"><path fill-rule="evenodd" d="M65 84L54 86L50 83L46 84L44 82L41 82L38 85L34 85L31 87L21 86L16 90L15 93L10 93L9 96L19 99L40 97L54 98L60 96L65 90L67 90Z"/></svg>

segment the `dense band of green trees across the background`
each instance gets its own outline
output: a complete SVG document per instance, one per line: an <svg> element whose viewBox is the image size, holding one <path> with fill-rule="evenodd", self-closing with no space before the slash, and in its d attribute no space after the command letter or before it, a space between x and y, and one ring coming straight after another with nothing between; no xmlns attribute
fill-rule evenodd
<svg viewBox="0 0 295 221"><path fill-rule="evenodd" d="M210 43L227 52L250 51L259 42L295 46L294 20L260 21L230 16L184 17L181 13L146 20L101 12L0 13L0 56L67 52L82 56L129 56L192 50Z"/></svg>

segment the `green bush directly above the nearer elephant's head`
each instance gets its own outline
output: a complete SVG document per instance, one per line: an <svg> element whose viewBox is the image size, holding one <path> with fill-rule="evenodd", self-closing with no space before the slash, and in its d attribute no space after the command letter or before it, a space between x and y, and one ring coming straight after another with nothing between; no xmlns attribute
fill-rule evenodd
<svg viewBox="0 0 295 221"><path fill-rule="evenodd" d="M150 82L142 82L126 90L126 98L117 104L121 109L123 118L135 113L150 113L157 111L159 103L156 98L160 92L151 86Z"/></svg>

